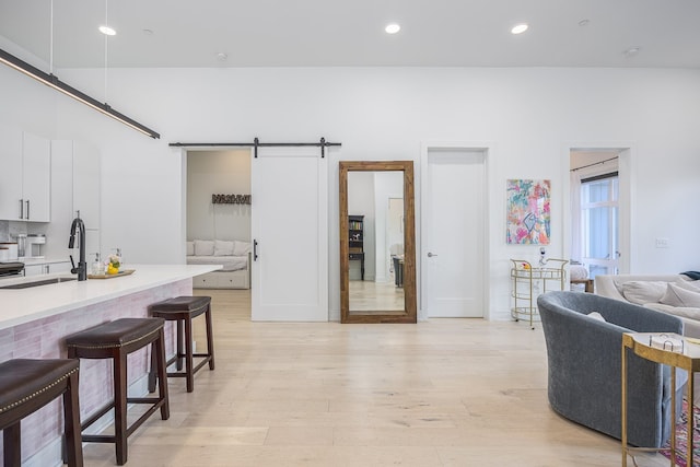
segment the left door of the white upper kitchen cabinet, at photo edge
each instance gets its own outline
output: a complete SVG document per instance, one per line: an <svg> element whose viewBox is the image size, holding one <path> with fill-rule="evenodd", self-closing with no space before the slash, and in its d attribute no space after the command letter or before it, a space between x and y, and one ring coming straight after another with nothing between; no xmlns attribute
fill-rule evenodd
<svg viewBox="0 0 700 467"><path fill-rule="evenodd" d="M0 125L0 219L19 220L22 199L22 129Z"/></svg>

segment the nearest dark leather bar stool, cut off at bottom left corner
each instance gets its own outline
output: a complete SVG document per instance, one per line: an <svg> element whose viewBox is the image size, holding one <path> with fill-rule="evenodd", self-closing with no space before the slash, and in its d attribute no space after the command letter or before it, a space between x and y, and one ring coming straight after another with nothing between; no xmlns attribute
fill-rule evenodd
<svg viewBox="0 0 700 467"><path fill-rule="evenodd" d="M63 396L65 460L82 467L78 360L15 359L0 364L0 430L4 466L22 465L21 421L59 396Z"/></svg>

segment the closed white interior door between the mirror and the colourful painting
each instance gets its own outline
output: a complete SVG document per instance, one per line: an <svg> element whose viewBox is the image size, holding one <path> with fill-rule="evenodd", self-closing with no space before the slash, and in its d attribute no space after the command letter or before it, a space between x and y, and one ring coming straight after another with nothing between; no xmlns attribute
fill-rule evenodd
<svg viewBox="0 0 700 467"><path fill-rule="evenodd" d="M485 155L428 150L421 227L428 317L483 317Z"/></svg>

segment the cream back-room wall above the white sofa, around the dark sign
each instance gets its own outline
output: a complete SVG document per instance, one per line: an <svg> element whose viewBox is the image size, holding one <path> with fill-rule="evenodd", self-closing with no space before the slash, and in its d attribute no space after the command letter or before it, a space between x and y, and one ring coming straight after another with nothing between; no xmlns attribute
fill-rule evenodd
<svg viewBox="0 0 700 467"><path fill-rule="evenodd" d="M187 238L250 242L250 205L213 205L212 195L250 195L250 151L188 151Z"/></svg>

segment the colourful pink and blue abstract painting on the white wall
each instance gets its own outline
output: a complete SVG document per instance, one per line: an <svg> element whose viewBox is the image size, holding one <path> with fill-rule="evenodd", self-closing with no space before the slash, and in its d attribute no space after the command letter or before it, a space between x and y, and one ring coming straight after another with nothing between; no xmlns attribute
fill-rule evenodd
<svg viewBox="0 0 700 467"><path fill-rule="evenodd" d="M508 180L505 223L509 245L549 245L550 195L550 180Z"/></svg>

